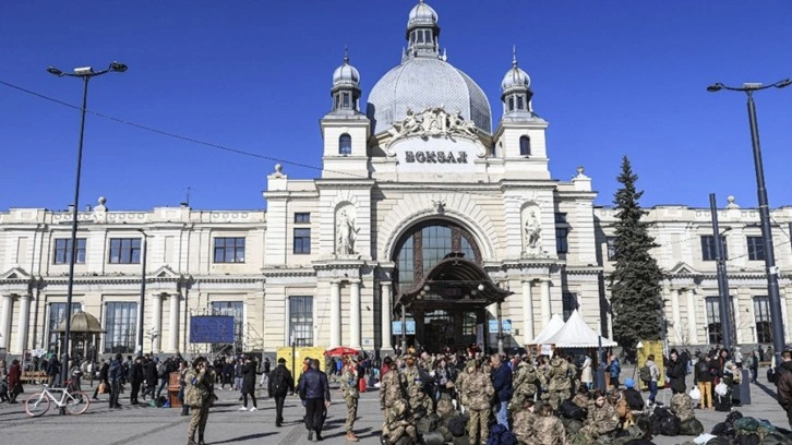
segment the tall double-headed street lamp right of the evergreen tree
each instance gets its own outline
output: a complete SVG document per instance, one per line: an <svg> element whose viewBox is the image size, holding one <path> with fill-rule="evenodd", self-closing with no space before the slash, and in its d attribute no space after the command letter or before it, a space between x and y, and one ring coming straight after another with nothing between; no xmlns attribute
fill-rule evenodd
<svg viewBox="0 0 792 445"><path fill-rule="evenodd" d="M767 88L783 88L792 84L792 80L784 79L773 84L744 83L741 87L727 86L717 83L707 87L710 93L721 89L743 92L748 96L748 124L751 125L751 143L754 149L754 168L756 170L756 189L759 196L759 219L761 224L761 238L765 248L765 273L767 274L767 297L770 303L770 323L772 324L772 349L776 353L776 363L781 363L781 351L784 349L783 317L781 313L781 296L778 290L778 267L772 246L772 230L770 229L770 209L767 204L767 189L765 188L765 169L761 164L761 147L759 145L759 128L756 123L756 106L754 93Z"/></svg>

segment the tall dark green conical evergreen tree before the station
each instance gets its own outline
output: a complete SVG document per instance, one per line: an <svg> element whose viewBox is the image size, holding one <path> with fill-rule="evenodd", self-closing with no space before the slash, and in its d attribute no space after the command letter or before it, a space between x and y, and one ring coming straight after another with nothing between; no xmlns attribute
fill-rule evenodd
<svg viewBox="0 0 792 445"><path fill-rule="evenodd" d="M613 196L619 218L613 225L616 265L610 277L613 336L619 345L632 349L640 340L662 339L663 274L649 254L658 244L647 233L647 222L640 220L647 214L638 204L644 192L635 189L638 176L626 156L616 179L623 187Z"/></svg>

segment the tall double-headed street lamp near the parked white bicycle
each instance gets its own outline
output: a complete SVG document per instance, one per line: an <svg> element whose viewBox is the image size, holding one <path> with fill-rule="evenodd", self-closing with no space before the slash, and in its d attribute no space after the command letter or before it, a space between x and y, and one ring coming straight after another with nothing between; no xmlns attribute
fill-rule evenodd
<svg viewBox="0 0 792 445"><path fill-rule="evenodd" d="M48 67L47 72L58 77L82 77L83 80L83 107L81 108L80 118L80 143L77 144L77 173L74 184L74 205L72 205L72 236L71 252L69 255L69 279L67 281L67 320L65 329L63 332L63 342L61 347L61 383L65 384L69 376L69 337L71 336L71 310L72 310L72 291L74 289L74 263L77 260L77 208L80 205L80 173L83 166L83 136L85 135L85 106L88 99L88 81L91 77L101 75L109 72L122 73L127 71L127 65L119 62L111 62L107 69L94 71L91 67L75 68L73 73L65 73L55 67Z"/></svg>

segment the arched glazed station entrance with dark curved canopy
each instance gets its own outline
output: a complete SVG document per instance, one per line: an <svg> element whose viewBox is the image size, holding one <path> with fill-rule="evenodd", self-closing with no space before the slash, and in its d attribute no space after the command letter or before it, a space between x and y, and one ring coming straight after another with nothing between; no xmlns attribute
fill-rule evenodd
<svg viewBox="0 0 792 445"><path fill-rule="evenodd" d="M393 260L395 337L403 350L491 346L485 308L512 292L497 287L483 269L480 249L467 229L444 219L418 224L398 240Z"/></svg>

